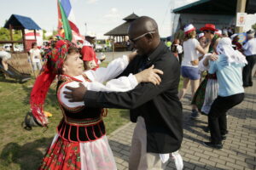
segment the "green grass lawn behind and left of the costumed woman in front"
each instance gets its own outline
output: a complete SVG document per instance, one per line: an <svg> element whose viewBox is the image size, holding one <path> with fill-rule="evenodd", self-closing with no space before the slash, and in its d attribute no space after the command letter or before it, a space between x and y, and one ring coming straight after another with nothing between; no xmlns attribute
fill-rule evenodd
<svg viewBox="0 0 256 170"><path fill-rule="evenodd" d="M103 62L102 66L108 63ZM61 110L55 98L55 83L49 89L44 110L53 114L49 128L34 127L26 131L21 127L26 112L30 110L29 95L34 80L20 84L0 77L0 169L34 170L38 168L45 150L51 144L55 128L61 120ZM129 122L126 110L109 109L104 118L107 133Z"/></svg>

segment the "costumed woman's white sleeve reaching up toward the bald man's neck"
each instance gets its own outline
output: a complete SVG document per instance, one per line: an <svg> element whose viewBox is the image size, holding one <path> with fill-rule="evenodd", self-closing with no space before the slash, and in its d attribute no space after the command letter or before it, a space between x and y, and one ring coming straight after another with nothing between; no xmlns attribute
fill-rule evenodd
<svg viewBox="0 0 256 170"><path fill-rule="evenodd" d="M125 70L128 64L128 56L123 55L123 57L113 59L113 61L108 64L107 68L100 67L96 69L96 71L90 70L85 71L84 73L92 82L107 82L108 80L119 76L119 74Z"/></svg>

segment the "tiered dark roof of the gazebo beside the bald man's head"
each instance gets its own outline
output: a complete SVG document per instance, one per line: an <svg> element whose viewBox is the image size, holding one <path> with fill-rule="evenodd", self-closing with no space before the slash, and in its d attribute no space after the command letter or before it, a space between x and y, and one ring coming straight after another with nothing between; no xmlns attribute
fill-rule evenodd
<svg viewBox="0 0 256 170"><path fill-rule="evenodd" d="M126 16L123 20L126 20L125 23L121 24L120 26L117 26L113 28L113 30L108 31L104 36L127 36L128 35L128 27L130 26L131 22L133 20L136 20L138 18L137 14L130 14L129 16Z"/></svg>

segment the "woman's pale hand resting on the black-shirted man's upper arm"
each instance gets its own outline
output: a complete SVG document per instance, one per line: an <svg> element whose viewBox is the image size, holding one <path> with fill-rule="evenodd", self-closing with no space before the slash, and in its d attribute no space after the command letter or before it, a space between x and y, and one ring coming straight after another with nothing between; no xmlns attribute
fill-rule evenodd
<svg viewBox="0 0 256 170"><path fill-rule="evenodd" d="M164 72L158 69L154 69L154 65L150 66L148 69L141 71L135 75L137 78L137 82L152 82L154 85L159 85L161 82L160 76L163 75Z"/></svg>

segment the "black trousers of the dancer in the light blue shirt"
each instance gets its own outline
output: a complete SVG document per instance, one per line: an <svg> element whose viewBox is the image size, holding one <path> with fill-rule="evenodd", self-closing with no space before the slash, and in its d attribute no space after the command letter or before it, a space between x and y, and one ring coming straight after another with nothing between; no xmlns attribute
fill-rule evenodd
<svg viewBox="0 0 256 170"><path fill-rule="evenodd" d="M227 97L218 96L212 103L208 115L208 124L211 133L212 143L221 144L221 135L228 132L227 130L227 111L235 105L241 103L244 94L234 94Z"/></svg>

